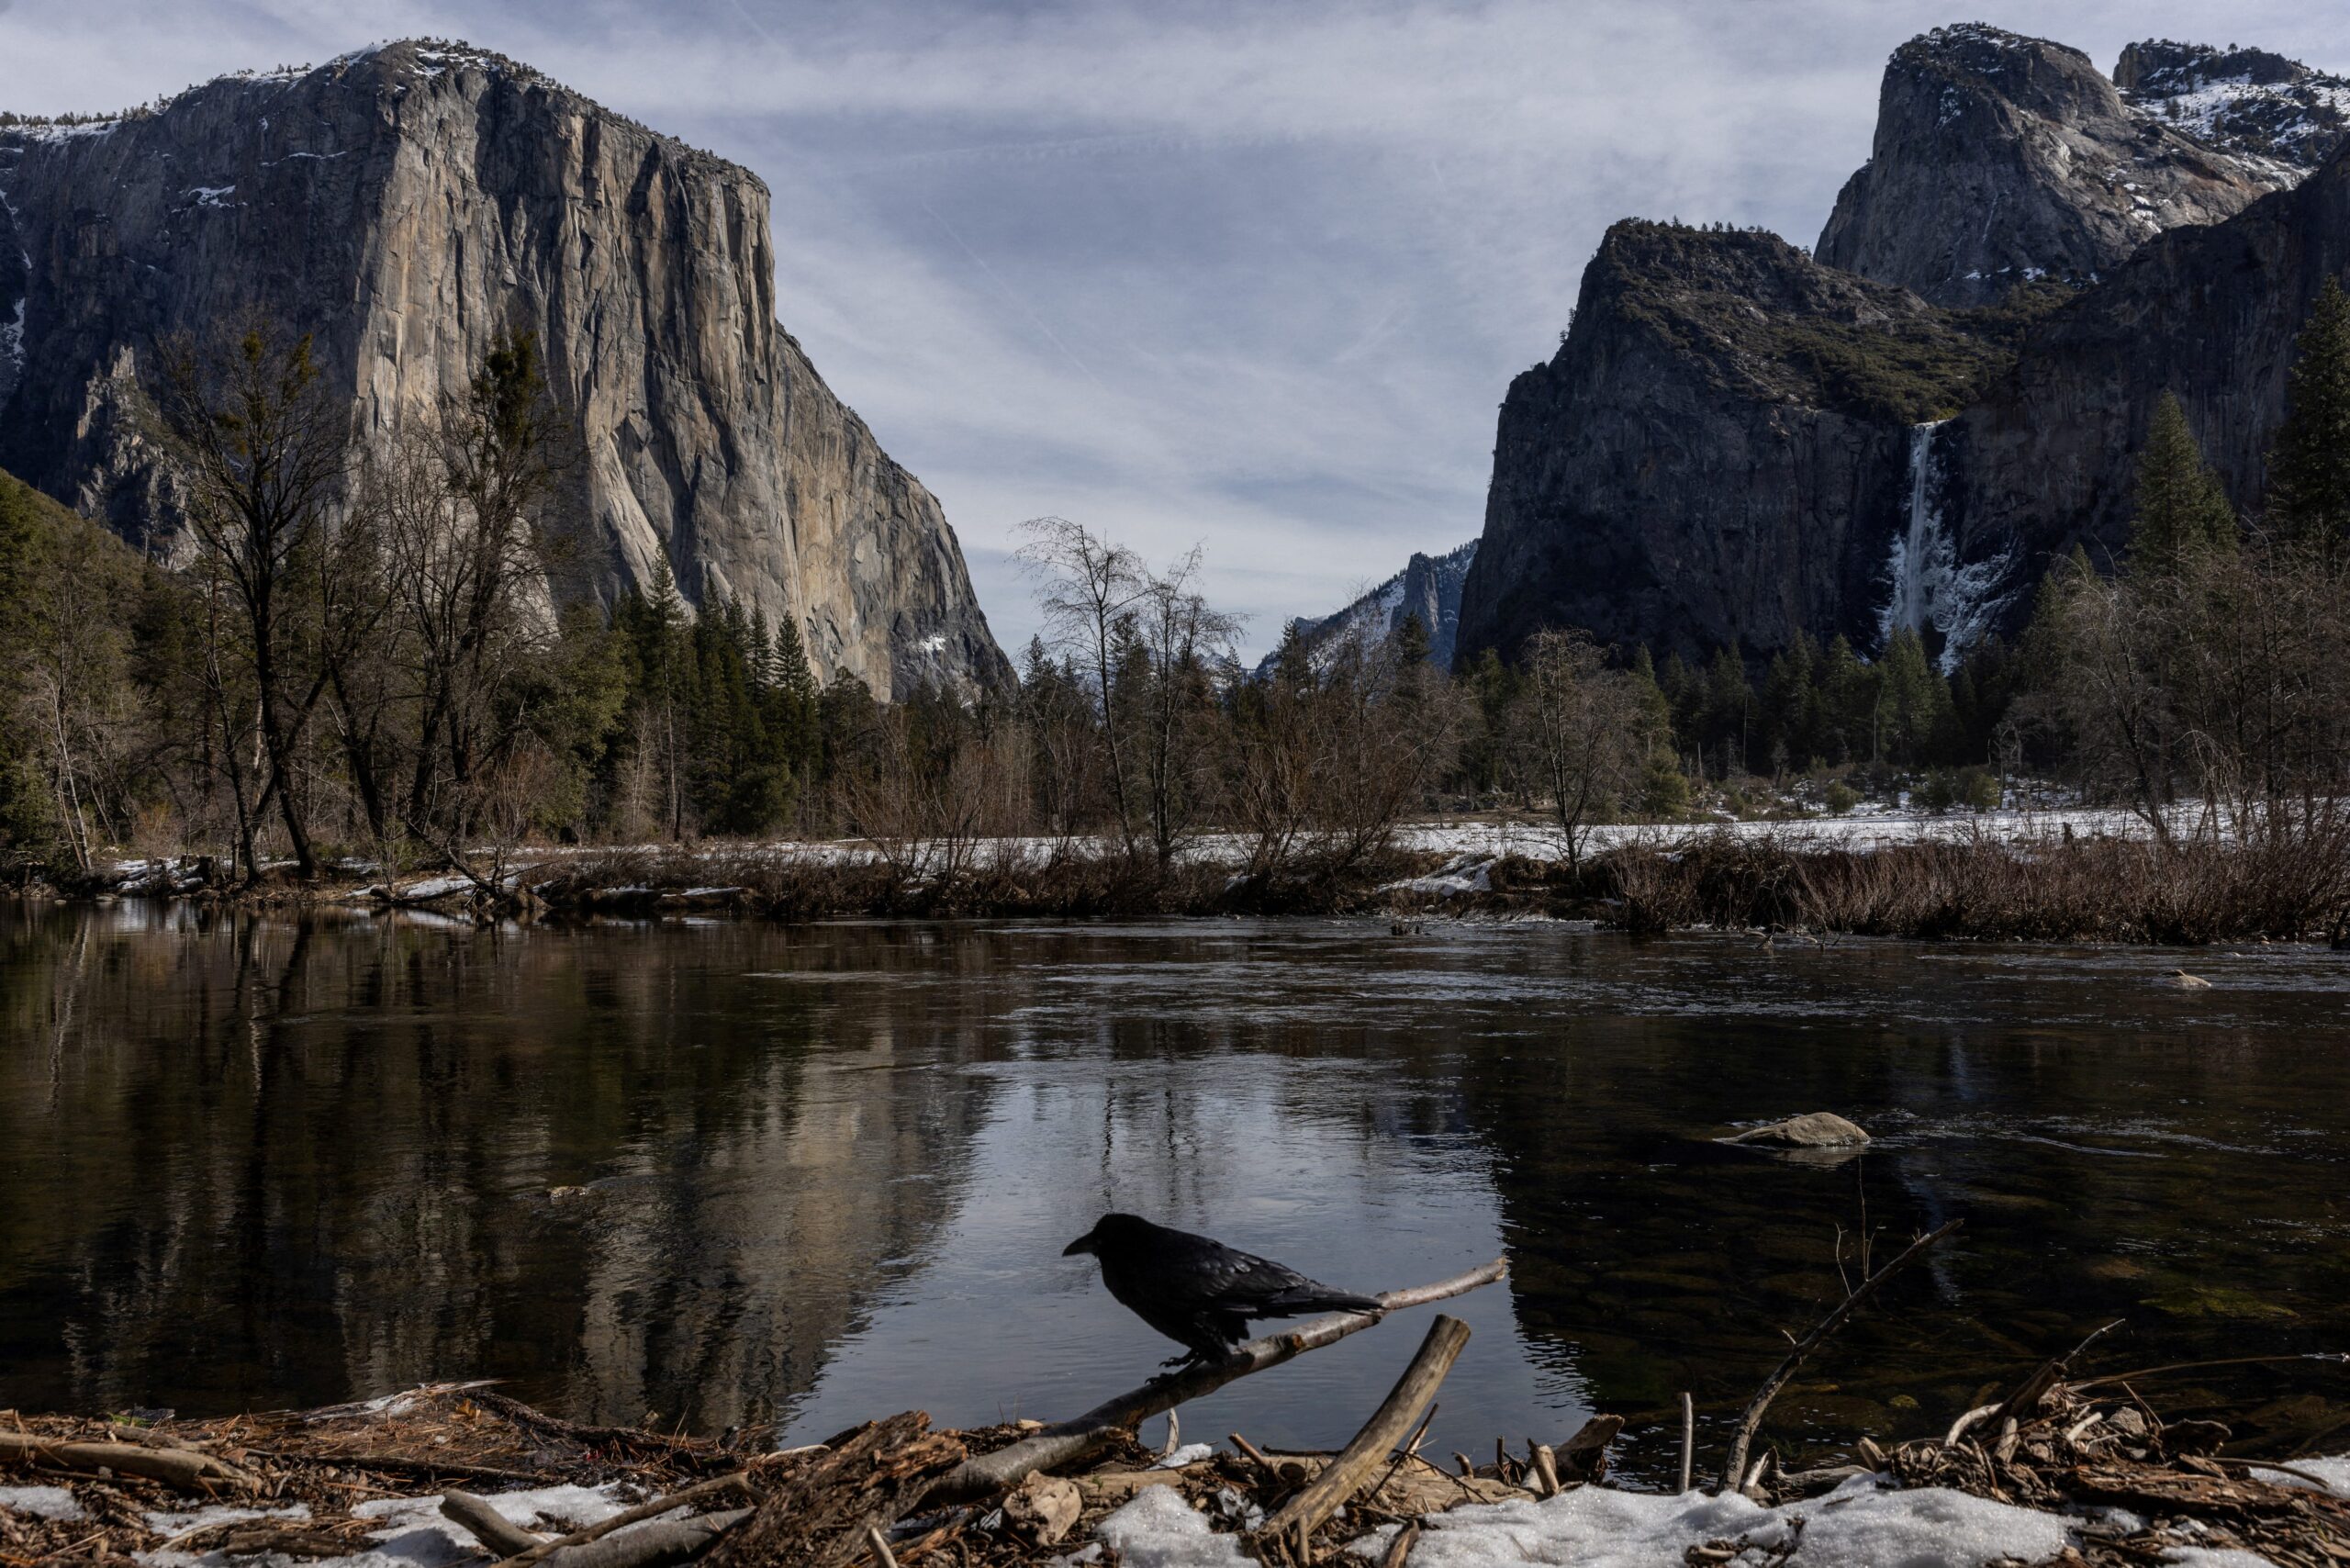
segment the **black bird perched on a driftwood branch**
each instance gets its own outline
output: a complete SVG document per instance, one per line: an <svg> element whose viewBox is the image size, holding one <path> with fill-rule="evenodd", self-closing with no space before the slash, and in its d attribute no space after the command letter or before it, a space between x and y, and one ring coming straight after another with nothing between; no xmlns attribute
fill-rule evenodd
<svg viewBox="0 0 2350 1568"><path fill-rule="evenodd" d="M1060 1255L1076 1253L1102 1262L1102 1284L1121 1307L1189 1352L1168 1366L1227 1361L1248 1340L1253 1316L1379 1312L1368 1295L1332 1291L1269 1258L1130 1213L1104 1213Z"/></svg>

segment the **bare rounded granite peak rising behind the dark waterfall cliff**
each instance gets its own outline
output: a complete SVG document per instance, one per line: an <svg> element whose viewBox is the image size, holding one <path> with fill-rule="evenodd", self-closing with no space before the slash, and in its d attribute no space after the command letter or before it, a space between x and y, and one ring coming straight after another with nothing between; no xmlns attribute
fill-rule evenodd
<svg viewBox="0 0 2350 1568"><path fill-rule="evenodd" d="M2131 108L2077 49L1936 28L1887 61L1868 165L1817 256L1939 306L2037 277L2094 282L2148 237L2232 216L2308 167L2242 146L2190 134L2153 92Z"/></svg>

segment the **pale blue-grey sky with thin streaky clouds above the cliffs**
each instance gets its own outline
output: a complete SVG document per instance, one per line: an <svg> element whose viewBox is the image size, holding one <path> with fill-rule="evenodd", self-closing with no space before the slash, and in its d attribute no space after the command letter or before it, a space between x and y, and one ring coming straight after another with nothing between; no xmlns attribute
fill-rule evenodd
<svg viewBox="0 0 2350 1568"><path fill-rule="evenodd" d="M1622 216L1810 244L1906 38L1990 21L2350 71L2338 0L0 0L0 108L463 38L754 169L778 313L940 496L1203 548L1243 649L1473 538L1495 414Z"/></svg>

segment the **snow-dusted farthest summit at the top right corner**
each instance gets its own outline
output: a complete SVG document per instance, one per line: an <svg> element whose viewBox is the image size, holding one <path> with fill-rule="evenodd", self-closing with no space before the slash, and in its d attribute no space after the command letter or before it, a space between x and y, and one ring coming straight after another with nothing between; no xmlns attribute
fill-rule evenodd
<svg viewBox="0 0 2350 1568"><path fill-rule="evenodd" d="M2153 38L2122 49L2113 80L2138 118L2294 176L2331 158L2350 129L2350 80L2268 49Z"/></svg>

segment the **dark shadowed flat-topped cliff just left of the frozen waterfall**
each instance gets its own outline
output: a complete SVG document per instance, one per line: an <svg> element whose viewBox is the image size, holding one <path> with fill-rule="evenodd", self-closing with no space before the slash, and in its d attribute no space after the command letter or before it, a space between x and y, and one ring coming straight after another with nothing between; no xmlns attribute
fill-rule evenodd
<svg viewBox="0 0 2350 1568"><path fill-rule="evenodd" d="M1795 632L1878 646L1913 428L2005 367L2019 320L1777 235L1617 223L1558 353L1502 402L1462 654L1516 656L1544 625L1657 658Z"/></svg>

